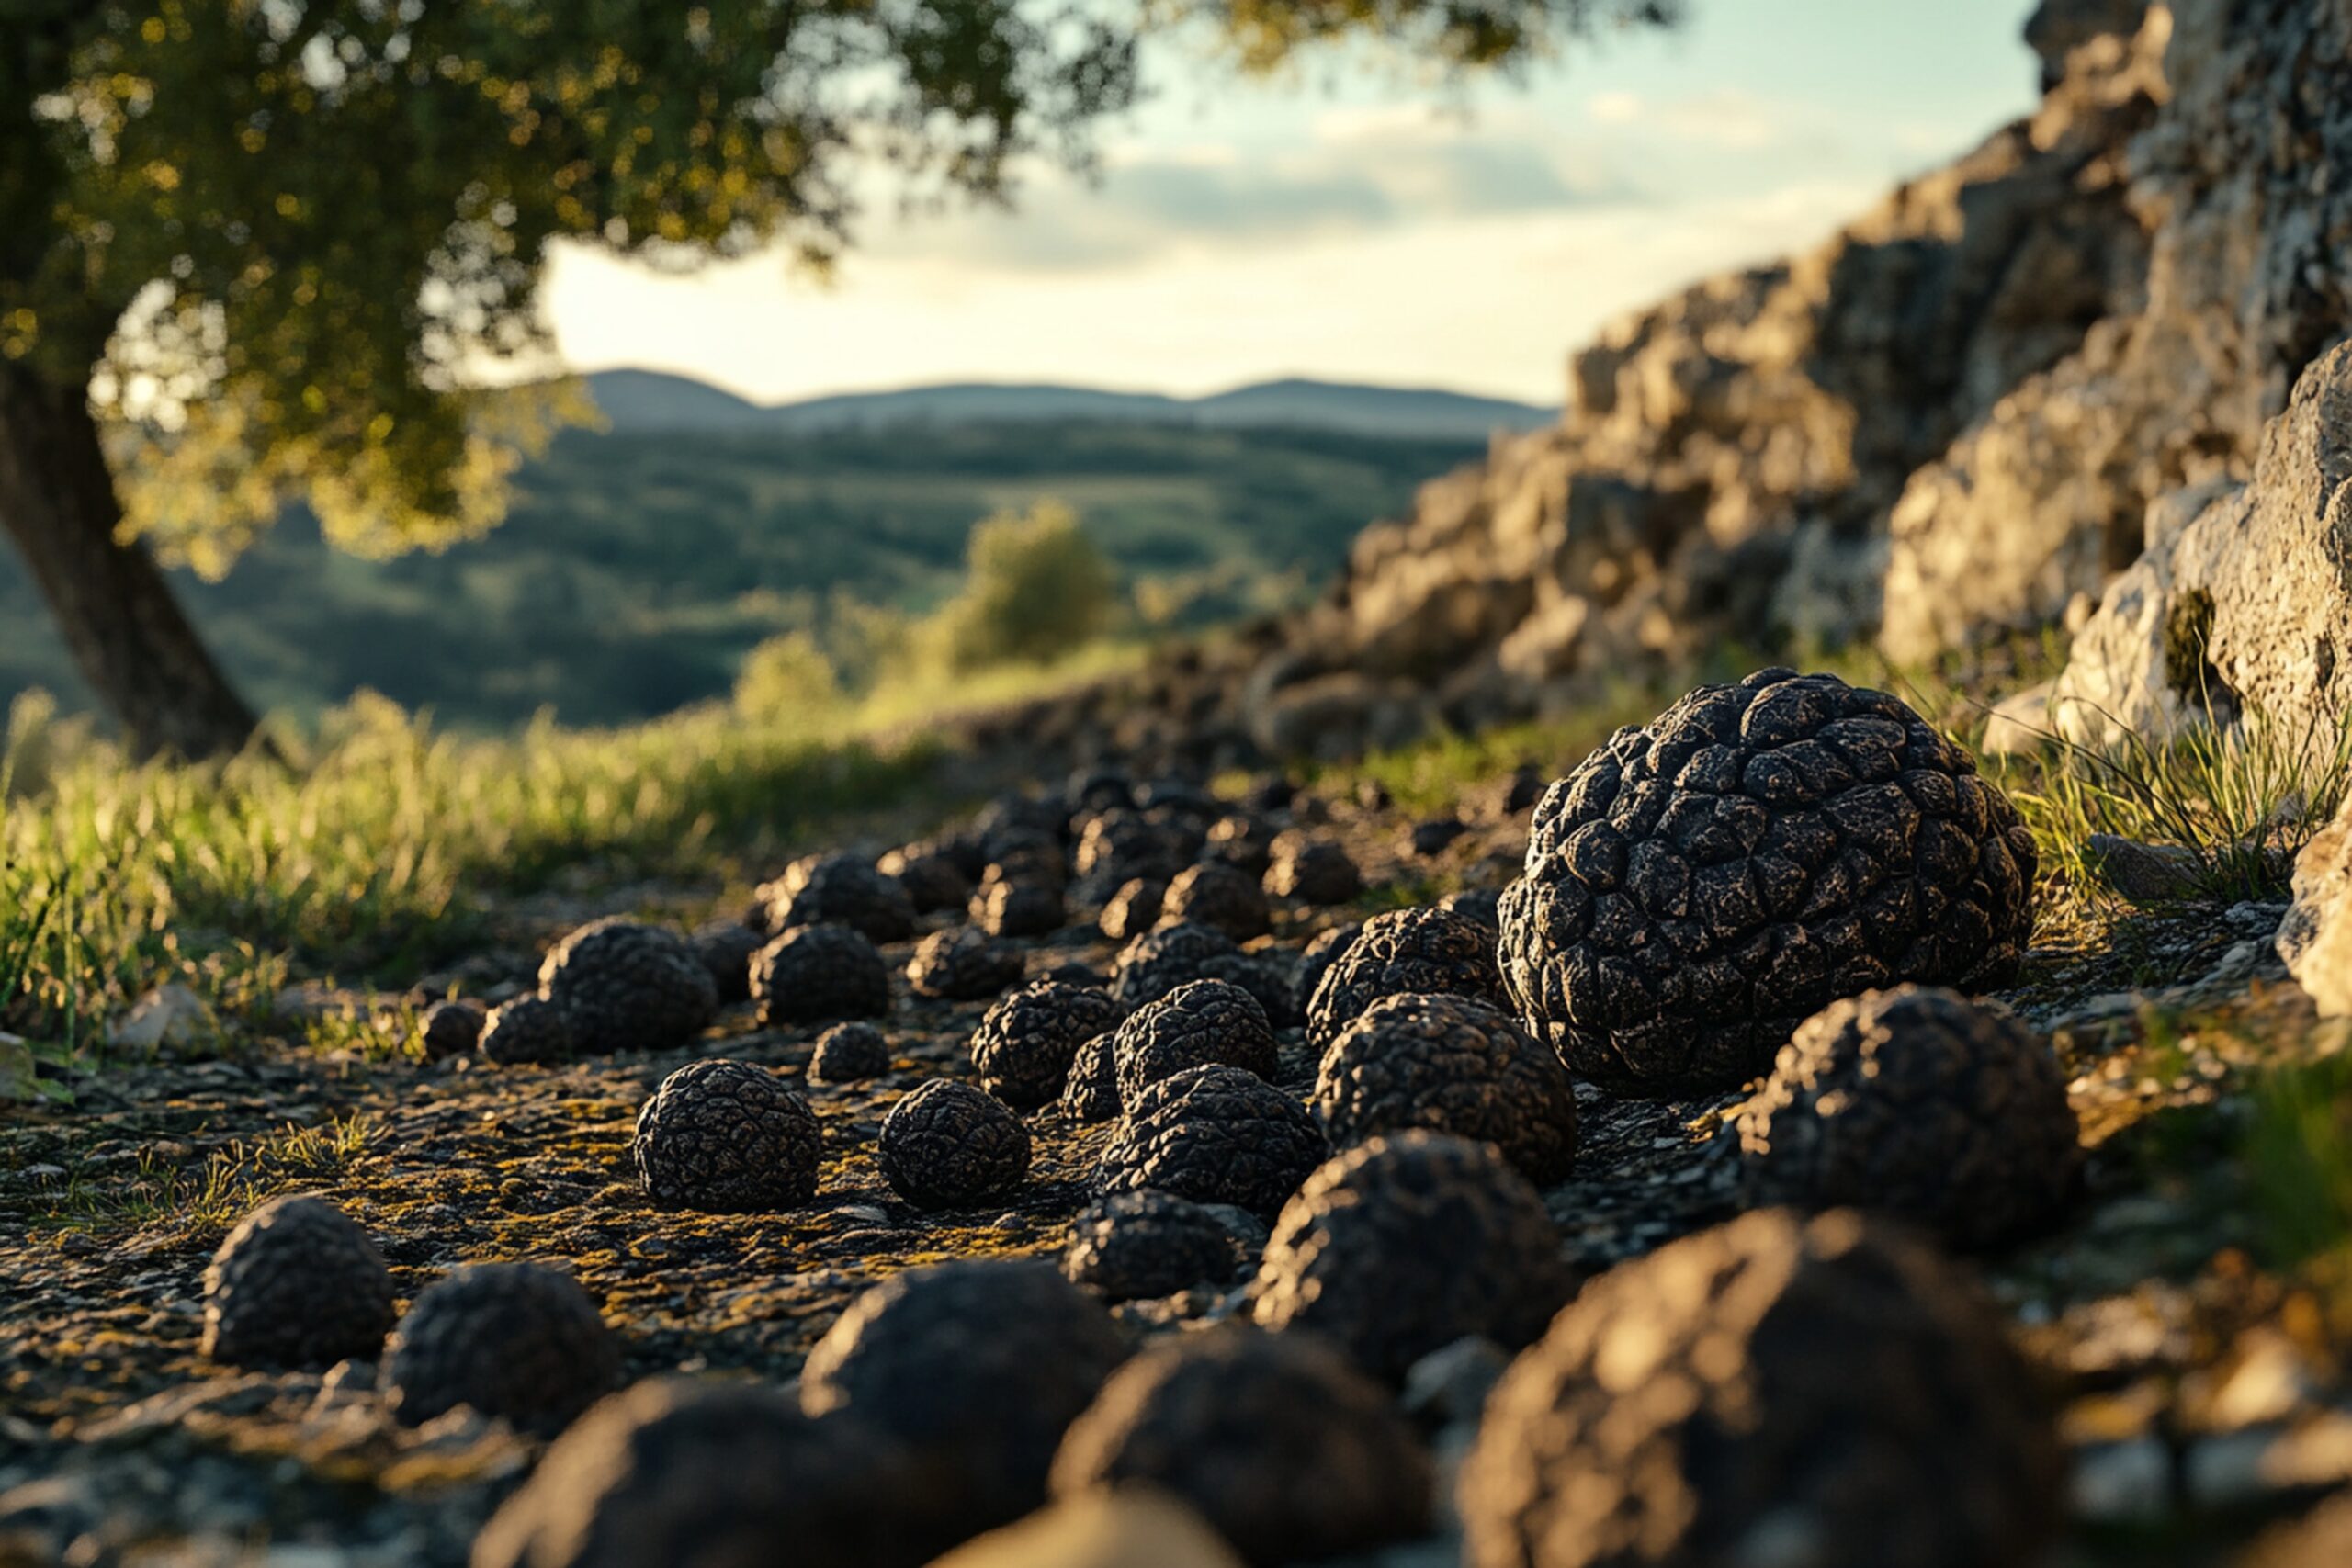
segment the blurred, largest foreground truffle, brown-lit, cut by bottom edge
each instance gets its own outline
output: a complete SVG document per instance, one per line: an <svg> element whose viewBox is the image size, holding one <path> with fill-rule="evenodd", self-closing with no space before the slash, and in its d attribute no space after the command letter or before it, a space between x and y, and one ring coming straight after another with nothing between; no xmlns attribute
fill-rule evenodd
<svg viewBox="0 0 2352 1568"><path fill-rule="evenodd" d="M1463 1467L1475 1568L2039 1561L2065 1453L1971 1284L1853 1211L1785 1208L1583 1288Z"/></svg>

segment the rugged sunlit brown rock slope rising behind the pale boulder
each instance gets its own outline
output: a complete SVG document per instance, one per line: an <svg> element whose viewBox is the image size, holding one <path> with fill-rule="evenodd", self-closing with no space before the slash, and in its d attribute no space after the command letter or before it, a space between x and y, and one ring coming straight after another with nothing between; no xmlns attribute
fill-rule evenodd
<svg viewBox="0 0 2352 1568"><path fill-rule="evenodd" d="M1254 738L1484 724L1724 644L1924 658L2089 604L2241 484L2352 324L2352 5L2046 0L2027 38L2030 120L1611 327L1559 428L1369 529L1244 684Z"/></svg>

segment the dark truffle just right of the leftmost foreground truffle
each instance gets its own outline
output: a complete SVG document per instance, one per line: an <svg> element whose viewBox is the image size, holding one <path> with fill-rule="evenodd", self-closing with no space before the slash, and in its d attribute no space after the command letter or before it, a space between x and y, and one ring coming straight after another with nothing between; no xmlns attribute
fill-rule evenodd
<svg viewBox="0 0 2352 1568"><path fill-rule="evenodd" d="M557 1269L482 1262L426 1286L383 1356L386 1406L407 1427L473 1406L553 1436L621 1380L621 1345Z"/></svg>

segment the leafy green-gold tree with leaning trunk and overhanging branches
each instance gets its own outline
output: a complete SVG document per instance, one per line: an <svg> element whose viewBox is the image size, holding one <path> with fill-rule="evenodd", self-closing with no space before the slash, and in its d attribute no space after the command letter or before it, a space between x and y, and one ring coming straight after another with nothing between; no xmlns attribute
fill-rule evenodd
<svg viewBox="0 0 2352 1568"><path fill-rule="evenodd" d="M861 167L1002 200L1084 165L1176 24L1242 68L1484 68L1670 5L0 0L0 522L141 752L235 748L153 548L219 564L296 498L353 550L492 527L517 433L477 371L546 348L550 244L821 266Z"/></svg>

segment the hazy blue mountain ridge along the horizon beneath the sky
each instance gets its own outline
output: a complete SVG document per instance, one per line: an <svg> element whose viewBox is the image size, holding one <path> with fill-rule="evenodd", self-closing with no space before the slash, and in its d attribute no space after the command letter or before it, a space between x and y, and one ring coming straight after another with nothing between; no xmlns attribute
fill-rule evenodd
<svg viewBox="0 0 2352 1568"><path fill-rule="evenodd" d="M1091 418L1105 423L1343 430L1350 435L1470 437L1543 430L1559 409L1437 388L1343 381L1261 381L1207 397L1108 393L1054 383L941 383L884 393L837 393L774 407L691 376L609 369L583 378L616 435L882 430Z"/></svg>

